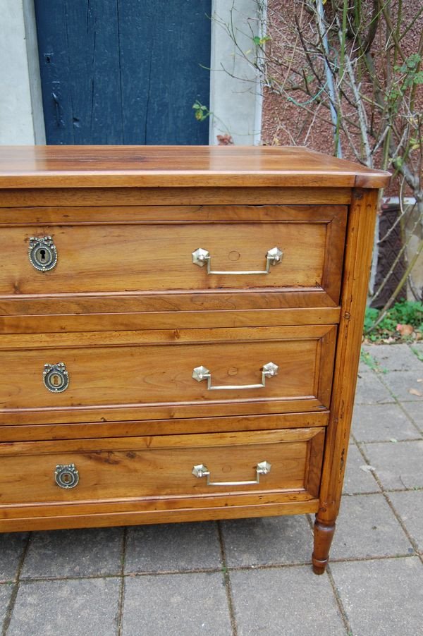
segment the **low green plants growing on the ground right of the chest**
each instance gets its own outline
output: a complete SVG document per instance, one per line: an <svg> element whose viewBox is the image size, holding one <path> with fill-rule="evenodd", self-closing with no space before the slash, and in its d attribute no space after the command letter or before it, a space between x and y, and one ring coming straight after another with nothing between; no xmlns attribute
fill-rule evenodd
<svg viewBox="0 0 423 636"><path fill-rule="evenodd" d="M379 318L379 310L367 307L364 317L364 334L373 342L386 338L399 340L401 334L397 325L411 325L416 331L423 331L423 302L403 300L397 302L386 312L379 324L374 326ZM412 338L412 336L408 336Z"/></svg>

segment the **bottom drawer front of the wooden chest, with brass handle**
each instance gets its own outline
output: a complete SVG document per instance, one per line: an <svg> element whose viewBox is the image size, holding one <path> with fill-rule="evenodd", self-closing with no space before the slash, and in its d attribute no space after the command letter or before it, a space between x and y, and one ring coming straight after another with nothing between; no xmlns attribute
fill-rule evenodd
<svg viewBox="0 0 423 636"><path fill-rule="evenodd" d="M8 505L301 493L317 496L324 429L0 445ZM208 473L208 474L207 474Z"/></svg>

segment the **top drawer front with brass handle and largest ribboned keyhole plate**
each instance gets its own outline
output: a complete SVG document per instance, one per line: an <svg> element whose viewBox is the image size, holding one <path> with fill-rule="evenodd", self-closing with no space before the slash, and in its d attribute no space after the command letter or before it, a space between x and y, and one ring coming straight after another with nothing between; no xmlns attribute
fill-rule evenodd
<svg viewBox="0 0 423 636"><path fill-rule="evenodd" d="M97 212L97 224L1 228L0 295L279 288L338 304L346 207L160 208L163 221L151 210L125 223L116 210L112 222ZM53 245L30 242L45 237Z"/></svg>

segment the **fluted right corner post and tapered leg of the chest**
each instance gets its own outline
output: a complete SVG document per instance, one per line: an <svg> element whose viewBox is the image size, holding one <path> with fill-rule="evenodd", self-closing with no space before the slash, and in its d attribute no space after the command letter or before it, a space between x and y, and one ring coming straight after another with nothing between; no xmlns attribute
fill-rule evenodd
<svg viewBox="0 0 423 636"><path fill-rule="evenodd" d="M316 542L320 546L316 553L318 561L324 561L325 558L327 560L333 534L322 529L333 525L341 503L367 301L376 202L377 192L358 189L353 192L350 231L345 251L342 312L333 376L331 417L321 483L321 505L314 529ZM321 534L326 537L326 541L321 539ZM316 567L318 565L319 563Z"/></svg>

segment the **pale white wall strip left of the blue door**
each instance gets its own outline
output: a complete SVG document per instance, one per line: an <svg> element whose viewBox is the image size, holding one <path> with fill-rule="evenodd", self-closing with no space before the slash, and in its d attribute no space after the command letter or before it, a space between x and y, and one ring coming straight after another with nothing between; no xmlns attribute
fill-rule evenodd
<svg viewBox="0 0 423 636"><path fill-rule="evenodd" d="M0 0L0 16L0 144L44 143L32 0Z"/></svg>

